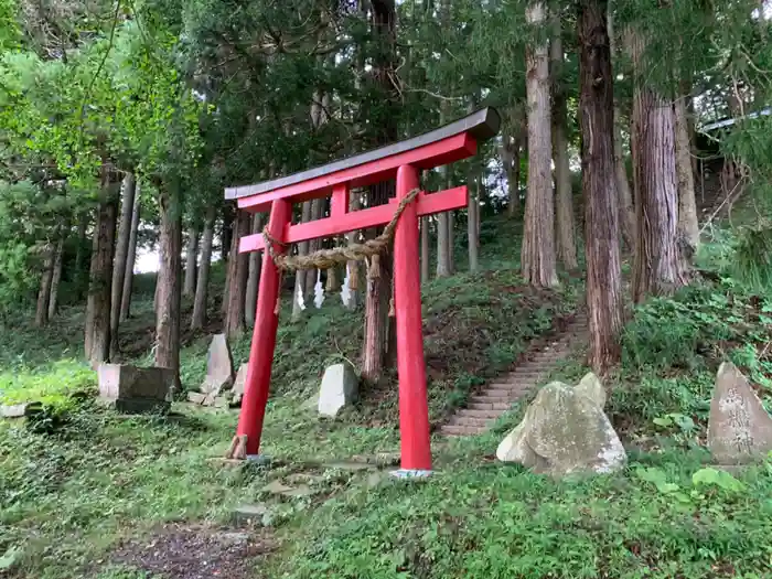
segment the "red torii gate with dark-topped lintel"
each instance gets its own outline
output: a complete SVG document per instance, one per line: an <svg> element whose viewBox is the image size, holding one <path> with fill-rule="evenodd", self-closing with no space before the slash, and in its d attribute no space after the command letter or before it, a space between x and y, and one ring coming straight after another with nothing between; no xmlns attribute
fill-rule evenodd
<svg viewBox="0 0 772 579"><path fill-rule="evenodd" d="M400 200L418 187L421 170L449 164L476 153L478 142L498 132L500 117L485 108L419 137L383 147L323 167L255 185L225 190L226 200L249 212L270 210L268 233L280 244L385 225ZM352 187L397 181L396 199L388 204L349 212ZM292 203L332 195L330 217L292 225ZM403 212L394 237L394 302L397 322L399 375L399 430L404 475L431 472L429 409L426 394L423 336L421 331L421 280L418 254L418 217L465 207L465 186L426 194L421 192ZM277 247L278 248L278 247ZM265 249L261 235L242 238L239 253ZM279 270L272 259L262 260L255 317L255 332L242 412L229 458L257 458L268 401L280 292Z"/></svg>

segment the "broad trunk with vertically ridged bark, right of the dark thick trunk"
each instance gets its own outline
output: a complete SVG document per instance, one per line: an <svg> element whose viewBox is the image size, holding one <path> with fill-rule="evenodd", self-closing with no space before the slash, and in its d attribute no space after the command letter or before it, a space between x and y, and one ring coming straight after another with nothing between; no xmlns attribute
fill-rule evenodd
<svg viewBox="0 0 772 579"><path fill-rule="evenodd" d="M630 33L636 67L642 39ZM637 243L633 299L666 296L686 285L687 271L678 247L678 187L675 160L675 115L671 103L636 79L634 154Z"/></svg>

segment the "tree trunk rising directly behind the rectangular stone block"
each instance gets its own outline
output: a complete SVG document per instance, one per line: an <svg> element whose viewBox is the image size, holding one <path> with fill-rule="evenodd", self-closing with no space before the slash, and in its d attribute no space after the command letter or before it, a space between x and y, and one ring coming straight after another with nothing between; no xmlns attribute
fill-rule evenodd
<svg viewBox="0 0 772 579"><path fill-rule="evenodd" d="M156 310L156 366L174 373L180 388L180 318L182 300L182 206L178 183L160 185L161 214Z"/></svg>

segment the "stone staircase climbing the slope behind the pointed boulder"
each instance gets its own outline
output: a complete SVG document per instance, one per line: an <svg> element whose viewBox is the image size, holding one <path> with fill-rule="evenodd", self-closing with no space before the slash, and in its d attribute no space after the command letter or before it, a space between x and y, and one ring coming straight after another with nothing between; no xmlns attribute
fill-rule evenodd
<svg viewBox="0 0 772 579"><path fill-rule="evenodd" d="M469 437L485 432L515 401L545 380L573 347L586 344L587 334L587 314L580 312L564 332L534 347L511 374L472 396L468 406L440 428L440 433Z"/></svg>

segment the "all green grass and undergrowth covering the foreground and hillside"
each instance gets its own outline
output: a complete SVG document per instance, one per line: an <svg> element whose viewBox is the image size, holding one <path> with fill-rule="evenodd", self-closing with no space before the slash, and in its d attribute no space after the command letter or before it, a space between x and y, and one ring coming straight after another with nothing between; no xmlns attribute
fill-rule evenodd
<svg viewBox="0 0 772 579"><path fill-rule="evenodd" d="M551 292L524 288L510 269L518 251L517 233L507 227L486 225L483 272L425 289L435 422L575 310L579 288L571 281ZM328 364L358 358L362 313L330 302L279 330L262 439L262 451L275 458L270 469L212 461L234 433L233 411L175 405L170 417L126 418L74 396L94 387L90 371L66 361L79 349L72 339L76 312L67 310L55 322L62 328L40 340L22 325L4 332L2 396L49 397L64 410L45 428L0 422L0 575L6 553L14 579L148 579L149 571L111 558L121 539L156 540L172 522L227 526L236 504L265 501L280 550L254 562L256 577L769 577L772 463L725 475L708 468L704 448L722 360L738 363L770 399L772 303L721 268L731 264L727 251L720 239L708 246L718 281L634 310L623 364L607 383L607 410L630 464L607 476L555 481L495 463L498 441L527 400L485 436L436 440L437 472L421 483L369 484L366 474L310 465L395 451L399 443L393 375L337 420L320 420L305 407ZM150 302L136 311L125 340L147 362ZM182 377L191 388L203 378L207 340L189 337ZM233 344L237 363L248 343ZM575 383L586 369L578 357L554 377ZM319 475L311 497L276 501L264 491L268 481L298 472Z"/></svg>

